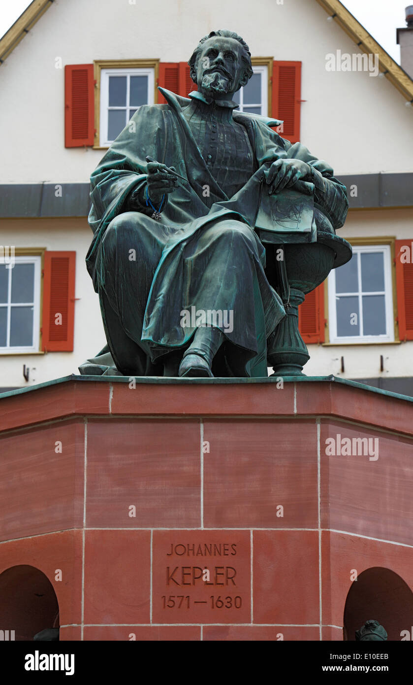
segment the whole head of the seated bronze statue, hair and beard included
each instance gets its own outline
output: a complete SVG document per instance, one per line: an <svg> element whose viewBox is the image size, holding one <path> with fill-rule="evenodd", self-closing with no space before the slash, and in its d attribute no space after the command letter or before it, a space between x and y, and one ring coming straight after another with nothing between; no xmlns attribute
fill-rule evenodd
<svg viewBox="0 0 413 685"><path fill-rule="evenodd" d="M233 94L252 77L251 54L233 31L211 31L201 38L188 61L191 79L210 97Z"/></svg>

